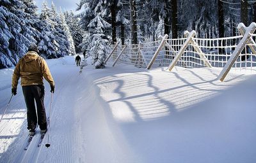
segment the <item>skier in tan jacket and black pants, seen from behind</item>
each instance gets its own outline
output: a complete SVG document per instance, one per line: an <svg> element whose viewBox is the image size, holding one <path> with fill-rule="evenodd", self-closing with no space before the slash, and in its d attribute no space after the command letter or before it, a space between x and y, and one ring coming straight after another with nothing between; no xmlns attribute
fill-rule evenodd
<svg viewBox="0 0 256 163"><path fill-rule="evenodd" d="M12 94L14 96L17 94L19 78L21 79L22 92L27 106L30 135L35 134L37 120L41 133L47 131L47 118L44 107L44 78L49 82L51 92L54 93L54 80L51 72L45 60L38 53L38 48L35 44L29 46L28 53L19 60L12 76Z"/></svg>

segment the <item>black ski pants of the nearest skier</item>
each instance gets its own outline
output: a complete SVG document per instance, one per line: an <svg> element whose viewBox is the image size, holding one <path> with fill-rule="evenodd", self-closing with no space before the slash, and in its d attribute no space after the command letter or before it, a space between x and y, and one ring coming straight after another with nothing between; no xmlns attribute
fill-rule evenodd
<svg viewBox="0 0 256 163"><path fill-rule="evenodd" d="M27 106L28 129L35 129L37 120L41 130L47 129L44 107L44 85L22 86L22 91Z"/></svg>

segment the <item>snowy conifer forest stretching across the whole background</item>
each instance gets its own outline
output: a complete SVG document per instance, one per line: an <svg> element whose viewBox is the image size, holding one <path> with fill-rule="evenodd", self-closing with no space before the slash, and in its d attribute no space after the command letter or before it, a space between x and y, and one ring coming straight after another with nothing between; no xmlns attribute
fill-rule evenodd
<svg viewBox="0 0 256 163"><path fill-rule="evenodd" d="M256 1L248 0L80 0L78 14L54 3L0 1L0 68L12 67L36 43L40 55L54 59L86 51L94 63L106 58L109 45L138 44L168 34L182 38L237 36L237 25L256 22ZM102 67L103 63L95 67Z"/></svg>

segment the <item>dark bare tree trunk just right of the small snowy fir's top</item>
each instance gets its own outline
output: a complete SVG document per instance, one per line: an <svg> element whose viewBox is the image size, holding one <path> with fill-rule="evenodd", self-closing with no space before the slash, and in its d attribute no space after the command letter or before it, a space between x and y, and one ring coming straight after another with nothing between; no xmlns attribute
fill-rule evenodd
<svg viewBox="0 0 256 163"><path fill-rule="evenodd" d="M116 43L116 10L117 10L116 0L113 0L111 4L111 25L112 25L112 44Z"/></svg>

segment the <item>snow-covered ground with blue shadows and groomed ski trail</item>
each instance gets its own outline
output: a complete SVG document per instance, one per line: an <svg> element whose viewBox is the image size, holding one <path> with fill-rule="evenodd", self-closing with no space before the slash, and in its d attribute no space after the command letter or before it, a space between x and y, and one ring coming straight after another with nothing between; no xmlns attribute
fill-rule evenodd
<svg viewBox="0 0 256 163"><path fill-rule="evenodd" d="M82 57L83 59L83 57ZM56 82L49 148L28 138L19 85L0 122L0 162L256 162L256 75L221 69L151 70L109 62L79 67L74 57L47 60ZM0 115L13 68L0 69ZM45 81L49 115L50 88Z"/></svg>

